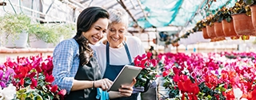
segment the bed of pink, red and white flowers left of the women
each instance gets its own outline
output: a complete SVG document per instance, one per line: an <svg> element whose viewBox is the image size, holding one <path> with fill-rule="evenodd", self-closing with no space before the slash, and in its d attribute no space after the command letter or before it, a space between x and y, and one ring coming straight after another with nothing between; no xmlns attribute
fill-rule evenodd
<svg viewBox="0 0 256 100"><path fill-rule="evenodd" d="M58 86L51 84L54 81L52 70L50 56L42 58L42 54L39 54L30 58L7 58L0 65L0 99L63 99L66 90L60 90ZM6 91L10 92L6 94Z"/></svg>

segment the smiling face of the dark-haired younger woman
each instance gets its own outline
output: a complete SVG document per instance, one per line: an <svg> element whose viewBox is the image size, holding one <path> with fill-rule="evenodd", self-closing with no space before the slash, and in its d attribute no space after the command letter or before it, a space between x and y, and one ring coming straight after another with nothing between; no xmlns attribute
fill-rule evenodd
<svg viewBox="0 0 256 100"><path fill-rule="evenodd" d="M94 45L103 38L108 26L107 18L99 18L97 22L90 27L90 30L82 32L83 36L88 39L90 44Z"/></svg>

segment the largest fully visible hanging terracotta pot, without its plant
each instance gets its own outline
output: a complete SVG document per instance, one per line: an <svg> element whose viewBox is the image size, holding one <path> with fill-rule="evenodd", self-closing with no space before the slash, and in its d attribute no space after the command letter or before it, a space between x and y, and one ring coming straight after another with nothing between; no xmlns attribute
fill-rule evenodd
<svg viewBox="0 0 256 100"><path fill-rule="evenodd" d="M234 19L234 31L238 35L256 34L250 16L247 16L246 14L233 14L232 18Z"/></svg>

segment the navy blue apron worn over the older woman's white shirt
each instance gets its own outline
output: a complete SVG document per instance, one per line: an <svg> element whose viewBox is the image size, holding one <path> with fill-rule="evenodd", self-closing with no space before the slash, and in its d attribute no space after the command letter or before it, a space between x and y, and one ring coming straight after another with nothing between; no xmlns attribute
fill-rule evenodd
<svg viewBox="0 0 256 100"><path fill-rule="evenodd" d="M122 42L126 49L126 54L129 58L130 65L134 65L134 63L131 60L130 52L128 49L128 46L126 45L126 42ZM118 76L119 72L122 70L123 66L125 65L110 65L110 44L109 42L106 42L106 70L103 78L109 78L111 81L114 81L114 79ZM114 98L111 100L137 100L138 93L132 94L128 98Z"/></svg>

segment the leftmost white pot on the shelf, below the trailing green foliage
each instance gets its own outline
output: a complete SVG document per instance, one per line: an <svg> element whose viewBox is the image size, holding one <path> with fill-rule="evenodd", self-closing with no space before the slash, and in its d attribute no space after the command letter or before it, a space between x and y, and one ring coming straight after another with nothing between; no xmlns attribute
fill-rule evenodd
<svg viewBox="0 0 256 100"><path fill-rule="evenodd" d="M18 34L18 36L14 36L13 34L10 34L6 38L5 46L7 48L26 48L27 40L28 40L28 33L26 32L22 32L21 34Z"/></svg>

